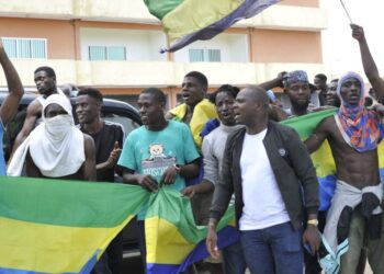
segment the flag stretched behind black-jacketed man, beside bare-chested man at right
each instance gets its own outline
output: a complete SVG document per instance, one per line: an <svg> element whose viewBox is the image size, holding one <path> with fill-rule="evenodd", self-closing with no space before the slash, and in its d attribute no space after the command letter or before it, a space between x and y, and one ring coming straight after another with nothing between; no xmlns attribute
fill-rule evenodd
<svg viewBox="0 0 384 274"><path fill-rule="evenodd" d="M281 122L293 127L298 133L301 139L307 139L316 126L326 117L336 113L337 109L314 112L307 115L290 118ZM330 206L330 199L334 196L336 187L336 165L334 157L327 140L321 147L310 155L316 168L316 174L319 182L320 210L327 210Z"/></svg>

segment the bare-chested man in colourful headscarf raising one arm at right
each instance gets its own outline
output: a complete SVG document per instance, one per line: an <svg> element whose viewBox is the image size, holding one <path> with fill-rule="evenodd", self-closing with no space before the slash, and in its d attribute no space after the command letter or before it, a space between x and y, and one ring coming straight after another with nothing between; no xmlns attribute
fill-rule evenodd
<svg viewBox="0 0 384 274"><path fill-rule="evenodd" d="M377 83L377 69L362 28L351 25L359 41L365 73ZM377 76L376 76L377 75ZM375 85L380 98L384 89ZM328 140L337 167L337 185L319 251L326 273L357 273L362 248L373 273L384 273L383 184L377 145L383 138L383 119L364 106L364 82L355 72L343 75L337 87L339 111L325 118L306 140L309 152Z"/></svg>

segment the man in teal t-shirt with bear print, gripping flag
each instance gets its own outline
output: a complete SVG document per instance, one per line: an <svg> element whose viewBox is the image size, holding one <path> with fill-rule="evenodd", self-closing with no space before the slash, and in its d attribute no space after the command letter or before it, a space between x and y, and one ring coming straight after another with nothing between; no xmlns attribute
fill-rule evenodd
<svg viewBox="0 0 384 274"><path fill-rule="evenodd" d="M138 106L144 125L128 135L117 162L124 169L124 183L138 184L149 192L159 185L181 192L185 187L184 180L199 174L200 155L191 130L183 123L166 119L166 95L159 89L142 91ZM146 212L145 206L137 216L144 264Z"/></svg>

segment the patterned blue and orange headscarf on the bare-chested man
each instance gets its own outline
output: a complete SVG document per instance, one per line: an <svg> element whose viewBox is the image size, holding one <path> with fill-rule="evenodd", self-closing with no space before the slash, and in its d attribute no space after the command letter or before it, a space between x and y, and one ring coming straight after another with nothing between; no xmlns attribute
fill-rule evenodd
<svg viewBox="0 0 384 274"><path fill-rule="evenodd" d="M341 96L340 91L343 83L354 78L360 82L360 99L357 106L349 105ZM364 107L364 81L355 72L343 75L337 87L341 106L335 114L336 124L346 142L359 152L373 150L382 139L383 130L379 115Z"/></svg>

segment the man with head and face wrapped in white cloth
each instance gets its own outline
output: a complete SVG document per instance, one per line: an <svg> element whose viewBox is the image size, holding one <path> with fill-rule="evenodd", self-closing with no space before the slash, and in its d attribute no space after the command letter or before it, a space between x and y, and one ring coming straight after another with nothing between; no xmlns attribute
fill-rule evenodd
<svg viewBox="0 0 384 274"><path fill-rule="evenodd" d="M72 107L63 94L43 104L43 123L20 145L8 168L20 175L95 181L93 139L75 126Z"/></svg>

